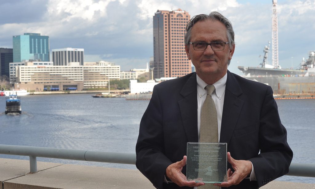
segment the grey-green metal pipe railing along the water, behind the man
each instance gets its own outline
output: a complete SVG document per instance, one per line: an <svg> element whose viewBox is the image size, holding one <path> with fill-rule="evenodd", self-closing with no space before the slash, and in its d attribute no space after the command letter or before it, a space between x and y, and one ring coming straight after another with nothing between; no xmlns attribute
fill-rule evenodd
<svg viewBox="0 0 315 189"><path fill-rule="evenodd" d="M106 163L133 164L136 155L132 153L102 152L89 150L72 150L34 146L17 146L0 144L0 154L25 155L30 157L30 173L37 172L36 157L57 158L66 160L96 161ZM288 176L315 177L315 164L291 163Z"/></svg>

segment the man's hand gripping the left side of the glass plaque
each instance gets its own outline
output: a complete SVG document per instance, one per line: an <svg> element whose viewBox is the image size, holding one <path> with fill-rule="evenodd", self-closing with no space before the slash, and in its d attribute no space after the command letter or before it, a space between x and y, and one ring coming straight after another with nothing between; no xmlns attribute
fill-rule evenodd
<svg viewBox="0 0 315 189"><path fill-rule="evenodd" d="M177 161L176 163L172 163L166 168L165 175L166 177L177 184L178 186L202 186L203 182L195 182L195 181L187 181L186 176L181 172L183 166L186 165L187 156L184 155L181 161Z"/></svg>

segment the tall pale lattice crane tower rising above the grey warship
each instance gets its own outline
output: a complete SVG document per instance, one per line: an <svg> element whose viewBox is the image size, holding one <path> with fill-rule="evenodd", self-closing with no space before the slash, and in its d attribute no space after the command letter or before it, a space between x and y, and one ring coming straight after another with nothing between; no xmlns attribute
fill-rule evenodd
<svg viewBox="0 0 315 189"><path fill-rule="evenodd" d="M277 0L272 0L272 66L279 68Z"/></svg>

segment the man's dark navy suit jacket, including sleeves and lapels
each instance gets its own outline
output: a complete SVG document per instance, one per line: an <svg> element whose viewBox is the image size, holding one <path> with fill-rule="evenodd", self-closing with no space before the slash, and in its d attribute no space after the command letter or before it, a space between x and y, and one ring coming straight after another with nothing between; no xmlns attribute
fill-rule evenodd
<svg viewBox="0 0 315 189"><path fill-rule="evenodd" d="M265 84L227 73L220 142L234 159L250 160L257 177L230 188L258 188L289 170L293 153L272 94ZM198 142L196 73L154 87L140 123L136 166L156 188L181 188L163 178L186 155L187 142Z"/></svg>

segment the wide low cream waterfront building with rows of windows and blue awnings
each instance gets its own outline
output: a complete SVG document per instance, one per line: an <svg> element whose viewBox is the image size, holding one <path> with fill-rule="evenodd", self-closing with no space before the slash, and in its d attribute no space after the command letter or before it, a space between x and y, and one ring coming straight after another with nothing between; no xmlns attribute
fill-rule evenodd
<svg viewBox="0 0 315 189"><path fill-rule="evenodd" d="M87 66L70 62L68 66L34 65L27 62L16 66L14 87L34 91L66 91L84 88L106 88L110 79L120 78L120 66L109 62L95 62Z"/></svg>

